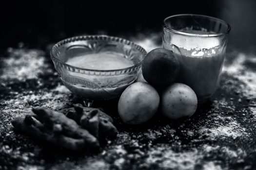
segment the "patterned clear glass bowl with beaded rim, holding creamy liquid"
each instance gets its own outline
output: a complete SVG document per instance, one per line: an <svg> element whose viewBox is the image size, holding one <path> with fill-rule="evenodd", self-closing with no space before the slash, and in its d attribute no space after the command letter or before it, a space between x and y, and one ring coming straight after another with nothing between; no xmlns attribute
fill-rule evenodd
<svg viewBox="0 0 256 170"><path fill-rule="evenodd" d="M99 51L122 53L134 65L122 69L98 70L66 64L69 58L76 55ZM108 100L120 96L137 79L146 54L142 47L131 41L107 35L64 39L51 50L51 58L62 82L70 91L82 97L86 106L90 106L93 100Z"/></svg>

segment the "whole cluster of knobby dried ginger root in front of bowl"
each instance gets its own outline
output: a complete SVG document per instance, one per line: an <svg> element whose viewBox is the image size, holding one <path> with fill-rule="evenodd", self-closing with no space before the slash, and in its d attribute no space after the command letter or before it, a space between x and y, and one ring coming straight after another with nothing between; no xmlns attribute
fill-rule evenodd
<svg viewBox="0 0 256 170"><path fill-rule="evenodd" d="M98 148L98 139L114 138L118 133L113 119L99 109L75 104L74 108L60 112L44 107L32 110L36 115L13 119L13 126L30 136L73 151Z"/></svg>

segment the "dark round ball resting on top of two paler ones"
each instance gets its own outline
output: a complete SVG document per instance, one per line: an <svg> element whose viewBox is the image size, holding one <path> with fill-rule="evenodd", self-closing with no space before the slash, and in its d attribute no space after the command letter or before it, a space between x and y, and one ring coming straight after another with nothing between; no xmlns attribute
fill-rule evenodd
<svg viewBox="0 0 256 170"><path fill-rule="evenodd" d="M150 51L142 63L142 75L151 85L169 85L177 76L179 62L173 51L158 48Z"/></svg>

